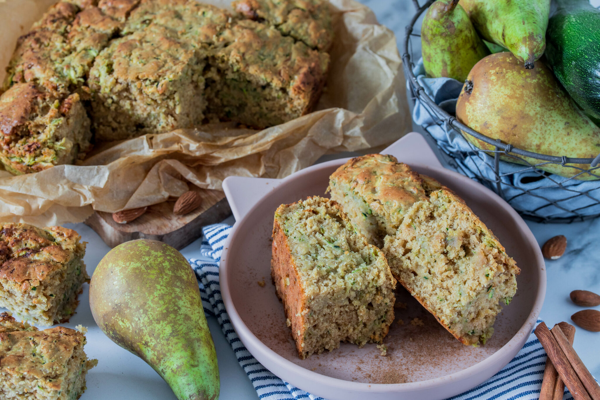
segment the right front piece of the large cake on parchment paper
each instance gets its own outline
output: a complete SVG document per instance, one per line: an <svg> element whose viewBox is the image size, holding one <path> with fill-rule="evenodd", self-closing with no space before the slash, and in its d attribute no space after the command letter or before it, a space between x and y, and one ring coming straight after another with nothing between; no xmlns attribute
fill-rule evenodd
<svg viewBox="0 0 600 400"><path fill-rule="evenodd" d="M225 29L210 54L206 115L259 129L310 112L329 68L328 53L253 20Z"/></svg>

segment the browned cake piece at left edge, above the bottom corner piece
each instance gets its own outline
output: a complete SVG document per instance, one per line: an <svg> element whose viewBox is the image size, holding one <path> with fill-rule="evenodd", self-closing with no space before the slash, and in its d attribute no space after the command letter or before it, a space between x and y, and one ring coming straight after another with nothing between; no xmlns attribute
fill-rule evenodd
<svg viewBox="0 0 600 400"><path fill-rule="evenodd" d="M68 321L89 282L80 239L68 228L1 225L0 306L43 326Z"/></svg>

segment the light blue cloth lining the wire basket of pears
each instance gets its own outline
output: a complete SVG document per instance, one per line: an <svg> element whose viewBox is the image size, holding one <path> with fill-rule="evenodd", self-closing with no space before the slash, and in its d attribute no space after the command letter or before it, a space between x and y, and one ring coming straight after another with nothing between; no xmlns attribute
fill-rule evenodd
<svg viewBox="0 0 600 400"><path fill-rule="evenodd" d="M463 82L449 78L427 78L425 77L425 68L423 67L422 59L413 68L413 73L416 76L419 85L425 89L425 93L431 97L435 103L440 106L443 110L454 115L456 110L456 100L463 88ZM407 83L407 85L409 85ZM437 118L433 118L435 114L428 110L426 104L422 104L421 101L416 99L415 109L413 110L413 121L415 124L421 125L428 133L433 136L436 140L437 145L449 155L456 154L457 152L473 152L473 146L464 139L463 135L452 127L444 126L440 127L437 125ZM454 161L450 161L450 167L457 170L469 178L475 178L475 173L480 176L484 176L490 181L495 181L494 175L494 158L490 157L484 152L478 152L472 155L467 155L465 160L453 157ZM543 207L546 204L550 204L546 199L559 201L559 204L568 210L578 209L582 215L593 215L600 213L600 205L594 204L600 199L600 181L577 181L576 179L568 180L558 175L550 175L549 178L553 179L557 183L562 183L564 187L569 190L575 190L578 192L587 192L592 197L585 195L578 195L573 191L560 190L559 188L548 188L548 185L552 185L553 182L548 179L541 179L535 182L521 182L523 178L538 178L539 174L529 171L524 171L527 166L521 166L519 164L506 163L500 161L500 174L508 175L502 176L502 196L512 207L517 210L529 210L538 213L543 216L553 216L554 218L568 218L573 216L572 213L565 212L559 207L550 205ZM520 172L521 171L521 172ZM514 175L512 175L514 174ZM482 184L487 185L495 191L496 184L491 184L490 181L479 180ZM508 185L512 185L510 187ZM522 190L532 191L533 195L524 194ZM538 197L541 196L541 197ZM577 197L574 197L577 196ZM543 207L543 208L540 208Z"/></svg>

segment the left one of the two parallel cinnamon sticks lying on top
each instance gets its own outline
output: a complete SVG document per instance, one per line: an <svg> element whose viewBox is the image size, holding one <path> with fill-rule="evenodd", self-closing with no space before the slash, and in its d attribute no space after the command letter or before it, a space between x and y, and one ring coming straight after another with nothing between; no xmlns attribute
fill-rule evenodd
<svg viewBox="0 0 600 400"><path fill-rule="evenodd" d="M548 354L550 360L552 360L554 368L556 368L556 371L565 382L566 387L569 388L569 392L571 392L573 398L575 400L592 400L545 323L542 322L535 328L535 335L546 350L546 354Z"/></svg>

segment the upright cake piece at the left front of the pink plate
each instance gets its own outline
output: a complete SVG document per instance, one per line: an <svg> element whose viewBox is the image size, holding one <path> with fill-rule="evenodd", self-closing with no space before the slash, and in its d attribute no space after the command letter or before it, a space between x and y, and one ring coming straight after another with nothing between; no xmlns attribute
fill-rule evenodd
<svg viewBox="0 0 600 400"><path fill-rule="evenodd" d="M301 359L347 341L381 343L396 281L382 252L322 197L275 212L271 275Z"/></svg>

